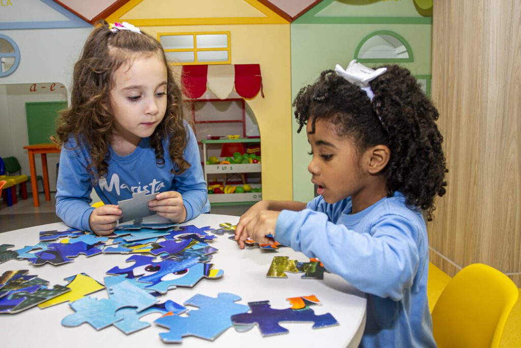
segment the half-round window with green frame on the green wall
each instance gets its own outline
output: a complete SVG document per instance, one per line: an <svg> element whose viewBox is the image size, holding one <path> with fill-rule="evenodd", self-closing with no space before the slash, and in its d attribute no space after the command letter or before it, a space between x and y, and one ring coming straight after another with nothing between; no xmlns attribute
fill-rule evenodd
<svg viewBox="0 0 521 348"><path fill-rule="evenodd" d="M408 42L401 35L388 30L367 35L356 47L354 58L358 62L367 63L414 62Z"/></svg>

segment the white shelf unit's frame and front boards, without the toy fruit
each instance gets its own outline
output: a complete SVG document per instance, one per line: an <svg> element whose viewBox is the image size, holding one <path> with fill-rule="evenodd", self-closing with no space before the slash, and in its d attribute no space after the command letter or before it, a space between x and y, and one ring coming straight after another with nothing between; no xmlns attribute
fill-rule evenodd
<svg viewBox="0 0 521 348"><path fill-rule="evenodd" d="M201 143L203 144L203 168L204 168L204 179L208 182L208 174L232 174L232 173L260 173L261 172L261 163L238 163L238 164L206 164L208 159L206 152L207 144L224 144L230 142L261 142L261 139L258 138L244 138L244 139L218 139L218 140L208 140L203 139ZM224 161L224 158L221 160ZM261 187L260 184L250 184L252 188ZM257 202L262 200L262 192L247 192L241 194L210 194L208 195L208 200L210 203L239 203L239 202Z"/></svg>

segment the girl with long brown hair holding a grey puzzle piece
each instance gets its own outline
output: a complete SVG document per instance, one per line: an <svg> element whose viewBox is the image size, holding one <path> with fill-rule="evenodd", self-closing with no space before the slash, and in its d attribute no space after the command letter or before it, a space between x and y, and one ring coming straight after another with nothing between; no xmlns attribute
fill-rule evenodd
<svg viewBox="0 0 521 348"><path fill-rule="evenodd" d="M121 218L118 201L140 192L159 193L148 207L172 222L208 212L199 147L161 44L126 22L104 22L73 74L71 104L57 128L58 217L108 235ZM105 203L95 209L93 187Z"/></svg>

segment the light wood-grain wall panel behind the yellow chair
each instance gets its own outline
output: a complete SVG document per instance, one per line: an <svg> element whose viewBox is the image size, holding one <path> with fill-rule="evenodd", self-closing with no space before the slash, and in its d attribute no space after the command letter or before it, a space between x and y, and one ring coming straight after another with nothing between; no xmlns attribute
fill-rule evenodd
<svg viewBox="0 0 521 348"><path fill-rule="evenodd" d="M518 0L437 0L432 25L432 100L450 172L429 242L459 267L482 262L513 275L521 274L520 14Z"/></svg>

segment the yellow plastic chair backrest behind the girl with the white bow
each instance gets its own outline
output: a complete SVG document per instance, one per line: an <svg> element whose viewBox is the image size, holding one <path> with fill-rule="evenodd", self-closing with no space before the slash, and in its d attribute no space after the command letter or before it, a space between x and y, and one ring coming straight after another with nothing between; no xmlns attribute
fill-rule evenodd
<svg viewBox="0 0 521 348"><path fill-rule="evenodd" d="M499 347L519 291L502 272L474 263L447 284L432 310L438 347Z"/></svg>

